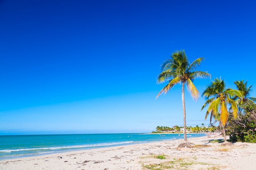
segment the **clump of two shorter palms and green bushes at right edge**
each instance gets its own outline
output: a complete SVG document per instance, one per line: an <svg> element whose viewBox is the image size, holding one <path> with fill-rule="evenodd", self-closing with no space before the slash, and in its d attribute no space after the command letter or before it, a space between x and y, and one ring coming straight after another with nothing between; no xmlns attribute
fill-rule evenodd
<svg viewBox="0 0 256 170"><path fill-rule="evenodd" d="M217 78L206 88L202 94L207 99L202 109L208 106L205 119L210 116L211 125L220 123L225 141L227 129L230 141L256 142L256 100L249 97L252 86L247 88L244 80L234 84L236 90L227 88L225 82Z"/></svg>

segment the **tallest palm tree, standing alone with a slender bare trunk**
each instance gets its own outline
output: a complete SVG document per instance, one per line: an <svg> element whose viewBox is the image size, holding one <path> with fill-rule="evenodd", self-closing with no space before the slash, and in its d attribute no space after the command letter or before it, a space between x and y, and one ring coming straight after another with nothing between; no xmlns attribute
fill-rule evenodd
<svg viewBox="0 0 256 170"><path fill-rule="evenodd" d="M211 77L207 72L195 71L197 66L200 65L204 58L198 58L191 64L185 54L185 51L176 51L172 53L171 59L165 60L162 65L162 73L157 76L157 83L164 83L168 81L168 84L158 93L157 97L161 94L166 94L178 83L182 84L182 107L183 107L183 122L184 122L184 142L186 139L186 108L184 99L184 85L186 84L187 89L194 100L199 97L199 92L193 84L195 78L207 78ZM157 98L156 97L156 98Z"/></svg>

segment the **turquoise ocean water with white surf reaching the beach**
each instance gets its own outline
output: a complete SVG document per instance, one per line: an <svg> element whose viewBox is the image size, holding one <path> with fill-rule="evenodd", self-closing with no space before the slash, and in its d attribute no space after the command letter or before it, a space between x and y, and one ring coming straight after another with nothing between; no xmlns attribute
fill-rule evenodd
<svg viewBox="0 0 256 170"><path fill-rule="evenodd" d="M203 133L187 134L187 138ZM0 136L0 160L146 142L183 139L180 134L85 134Z"/></svg>

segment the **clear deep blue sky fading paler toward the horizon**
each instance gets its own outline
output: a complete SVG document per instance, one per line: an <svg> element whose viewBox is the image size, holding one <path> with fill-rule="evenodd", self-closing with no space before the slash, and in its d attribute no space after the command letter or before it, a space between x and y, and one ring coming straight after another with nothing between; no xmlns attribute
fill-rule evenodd
<svg viewBox="0 0 256 170"><path fill-rule="evenodd" d="M248 80L256 97L252 0L0 0L0 135L151 132L182 126L181 86L155 100L160 65L204 57L198 91ZM204 98L185 93L187 125Z"/></svg>

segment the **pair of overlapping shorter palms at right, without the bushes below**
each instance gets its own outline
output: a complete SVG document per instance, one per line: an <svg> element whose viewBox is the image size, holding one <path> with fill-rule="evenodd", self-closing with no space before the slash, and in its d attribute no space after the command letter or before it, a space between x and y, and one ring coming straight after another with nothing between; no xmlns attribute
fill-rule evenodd
<svg viewBox="0 0 256 170"><path fill-rule="evenodd" d="M256 101L255 97L249 97L252 86L247 88L247 82L235 81L234 84L237 89L227 88L224 80L216 78L202 93L207 100L201 110L208 107L205 119L210 116L210 124L213 120L214 123L220 123L225 142L227 141L225 127L230 114L236 119L238 111L242 111L243 104L248 101L252 103Z"/></svg>

